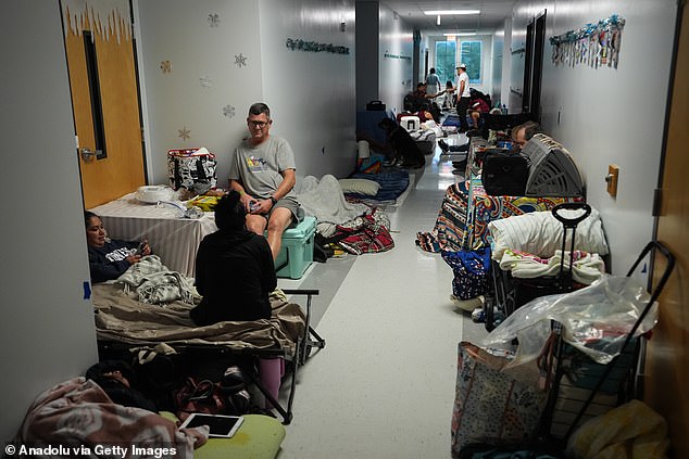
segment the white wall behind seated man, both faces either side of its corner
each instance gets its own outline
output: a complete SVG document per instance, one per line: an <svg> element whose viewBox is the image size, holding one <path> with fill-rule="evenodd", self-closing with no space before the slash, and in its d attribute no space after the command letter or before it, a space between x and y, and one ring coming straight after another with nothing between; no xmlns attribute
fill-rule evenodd
<svg viewBox="0 0 689 459"><path fill-rule="evenodd" d="M353 0L147 0L138 2L138 14L152 182L166 181L167 150L206 146L217 155L218 186L227 186L230 154L248 136L254 102L271 107L272 132L291 144L299 175L351 173ZM220 18L216 26L210 15ZM287 38L350 53L291 51ZM242 58L246 65L237 63ZM161 71L162 61L171 61L171 73ZM186 141L178 137L184 127Z"/></svg>

